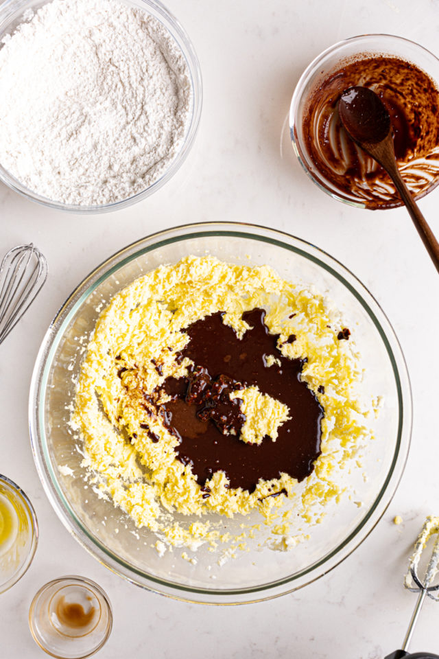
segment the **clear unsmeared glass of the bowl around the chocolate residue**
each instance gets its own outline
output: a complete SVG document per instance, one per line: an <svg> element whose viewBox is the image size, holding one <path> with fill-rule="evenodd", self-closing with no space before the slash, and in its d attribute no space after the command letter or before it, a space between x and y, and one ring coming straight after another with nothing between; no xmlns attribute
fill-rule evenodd
<svg viewBox="0 0 439 659"><path fill-rule="evenodd" d="M419 69L425 71L428 76L436 82L439 88L439 60L429 50L420 46L414 41L409 41L400 36L392 34L364 34L353 36L345 41L340 41L335 45L324 50L311 64L305 69L296 84L289 108L289 132L292 139L294 152L299 159L305 172L313 183L316 183L320 189L329 194L334 199L342 201L348 205L357 208L366 208L366 204L359 196L350 195L342 192L338 187L329 181L320 172L318 167L310 157L307 143L303 137L303 119L307 109L307 99L313 89L318 86L319 81L324 80L330 73L336 71L343 60L353 58L358 55L384 55L399 57L407 62L412 62ZM439 183L439 170L436 175L426 174L429 183L421 194L420 198L431 192ZM403 202L394 203L394 207L402 206Z"/></svg>

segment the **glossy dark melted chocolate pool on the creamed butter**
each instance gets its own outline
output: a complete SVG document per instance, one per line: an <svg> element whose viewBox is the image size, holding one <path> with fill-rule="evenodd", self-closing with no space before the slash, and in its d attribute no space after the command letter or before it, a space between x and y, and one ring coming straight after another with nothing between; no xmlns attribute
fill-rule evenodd
<svg viewBox="0 0 439 659"><path fill-rule="evenodd" d="M270 334L264 323L264 310L243 315L252 329L241 340L224 325L223 315L212 314L185 330L190 341L182 357L189 357L195 366L189 377L167 378L163 385L171 401L161 406L161 415L180 439L178 459L191 465L202 486L219 470L226 473L230 487L249 492L259 478L270 481L281 472L302 481L320 455L323 417L315 395L300 380L304 362L282 356L276 347L278 334ZM287 342L295 339L291 335ZM280 365L268 367L270 355ZM252 384L285 403L291 417L278 428L276 441L264 437L259 446L239 439L246 417L241 400L229 397L231 391ZM204 496L209 496L209 488Z"/></svg>

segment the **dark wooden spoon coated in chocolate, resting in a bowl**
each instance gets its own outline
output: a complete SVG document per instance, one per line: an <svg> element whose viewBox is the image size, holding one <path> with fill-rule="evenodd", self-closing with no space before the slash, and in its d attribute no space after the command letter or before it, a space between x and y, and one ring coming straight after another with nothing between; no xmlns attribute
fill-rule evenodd
<svg viewBox="0 0 439 659"><path fill-rule="evenodd" d="M439 243L399 173L393 147L392 122L381 99L368 87L349 87L340 97L338 111L348 135L392 178L439 272Z"/></svg>

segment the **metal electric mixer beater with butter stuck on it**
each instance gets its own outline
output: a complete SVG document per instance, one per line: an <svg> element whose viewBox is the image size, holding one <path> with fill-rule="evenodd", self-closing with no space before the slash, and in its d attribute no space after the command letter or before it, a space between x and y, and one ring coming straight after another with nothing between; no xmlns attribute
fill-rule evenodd
<svg viewBox="0 0 439 659"><path fill-rule="evenodd" d="M425 546L427 542L431 541L433 543L433 550L431 552L431 557L427 564L427 569L425 570L425 575L420 577L418 570L420 567L420 558L423 555ZM410 620L409 628L407 629L407 634L403 640L403 647L401 650L396 650L392 654L389 654L385 659L402 659L406 657L407 659L439 659L437 654L430 654L428 652L417 652L416 654L409 654L406 651L410 643L410 638L412 638L414 625L418 619L420 609L423 605L425 597L431 597L435 601L439 601L439 583L436 577L439 576L439 517L427 517L425 520L424 526L420 534L418 535L418 540L414 546L414 552L410 558L409 571L405 575L404 586L412 592L418 592L418 601L416 602L416 607L414 609L412 619ZM435 583L436 582L436 583Z"/></svg>

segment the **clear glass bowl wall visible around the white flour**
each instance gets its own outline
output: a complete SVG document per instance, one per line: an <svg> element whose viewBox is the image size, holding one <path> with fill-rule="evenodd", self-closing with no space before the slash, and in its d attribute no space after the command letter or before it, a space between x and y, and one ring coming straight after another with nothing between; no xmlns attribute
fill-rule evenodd
<svg viewBox="0 0 439 659"><path fill-rule="evenodd" d="M198 124L200 122L200 114L202 107L202 78L201 78L201 69L200 63L198 62L198 57L195 53L193 45L187 36L185 30L180 25L175 16L173 16L164 5L156 0L121 0L128 5L133 7L140 8L151 14L156 18L166 30L171 34L171 36L176 41L178 47L182 51L183 56L187 61L187 66L191 76L191 86L192 86L192 108L191 108L191 119L189 126L187 128L187 133L185 135L185 141L182 143L182 147L173 161L171 161L169 167L163 174L156 180L152 185L144 189L142 192L138 192L131 197L126 199L121 199L120 201L104 204L99 206L80 206L80 205L69 205L63 204L46 197L41 196L40 194L34 192L33 190L28 189L20 183L8 170L5 170L0 163L0 181L8 185L15 192L23 194L26 198L36 201L45 206L51 208L60 209L63 211L72 211L73 213L102 213L106 211L115 211L126 206L131 206L132 204L141 201L145 197L150 196L153 192L156 192L161 188L169 178L174 176L177 170L180 169L182 163L187 158L189 150L193 145L193 140L195 139L196 132L198 130ZM11 34L16 29L17 25L23 22L23 13L27 10L38 10L42 5L45 5L47 0L6 0L3 4L0 5L0 48L1 41L6 34Z"/></svg>

